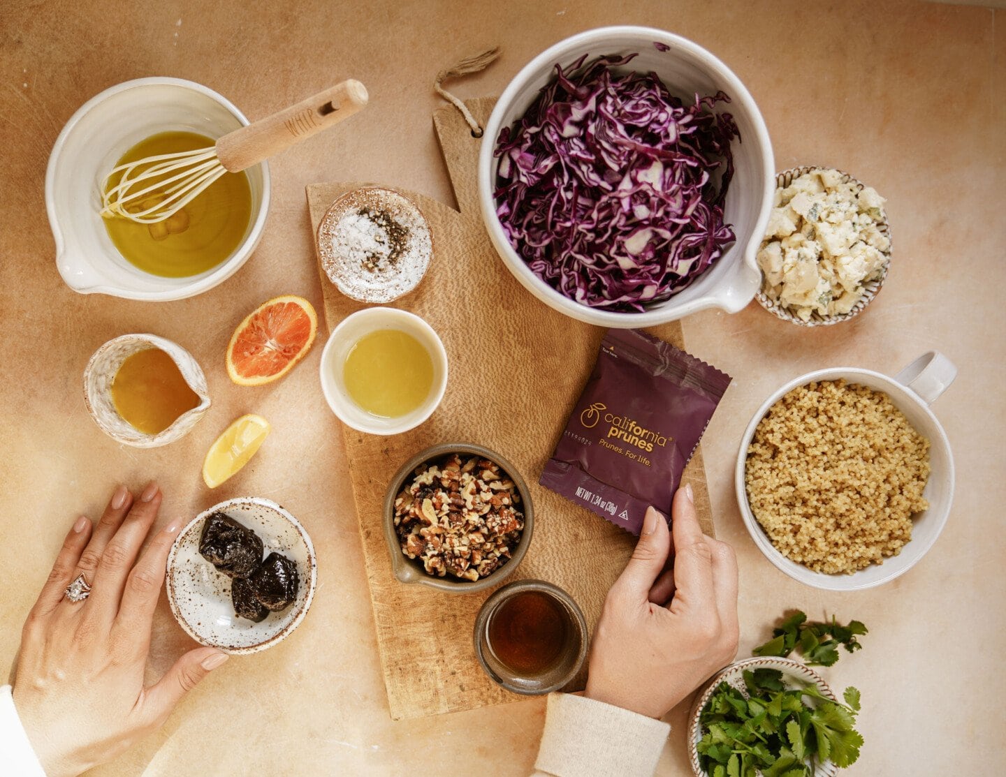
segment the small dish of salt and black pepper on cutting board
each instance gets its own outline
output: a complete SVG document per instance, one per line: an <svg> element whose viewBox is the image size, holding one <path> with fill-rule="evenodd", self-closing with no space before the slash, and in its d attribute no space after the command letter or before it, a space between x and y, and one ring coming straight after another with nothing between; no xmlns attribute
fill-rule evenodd
<svg viewBox="0 0 1006 777"><path fill-rule="evenodd" d="M347 192L318 225L325 274L342 294L361 303L390 303L411 292L426 274L433 252L423 212L391 189Z"/></svg>

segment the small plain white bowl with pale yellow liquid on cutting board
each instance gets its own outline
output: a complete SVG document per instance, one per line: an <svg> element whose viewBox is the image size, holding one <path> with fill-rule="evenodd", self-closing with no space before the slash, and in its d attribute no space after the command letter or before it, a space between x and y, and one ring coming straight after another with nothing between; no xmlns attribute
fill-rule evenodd
<svg viewBox="0 0 1006 777"><path fill-rule="evenodd" d="M367 308L332 332L321 355L321 388L347 426L398 434L437 409L447 369L444 344L423 319L395 308Z"/></svg>

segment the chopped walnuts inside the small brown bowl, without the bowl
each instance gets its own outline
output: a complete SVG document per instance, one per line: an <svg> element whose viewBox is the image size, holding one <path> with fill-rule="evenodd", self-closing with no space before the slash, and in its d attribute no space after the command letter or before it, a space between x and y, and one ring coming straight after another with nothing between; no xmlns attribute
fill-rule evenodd
<svg viewBox="0 0 1006 777"><path fill-rule="evenodd" d="M457 453L415 469L394 500L401 552L430 575L478 580L510 560L524 514L520 494L499 464Z"/></svg>

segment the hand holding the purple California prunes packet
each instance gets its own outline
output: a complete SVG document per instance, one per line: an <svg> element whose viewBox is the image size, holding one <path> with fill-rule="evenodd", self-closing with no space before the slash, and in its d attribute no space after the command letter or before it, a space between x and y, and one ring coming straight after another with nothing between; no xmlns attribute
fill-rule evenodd
<svg viewBox="0 0 1006 777"><path fill-rule="evenodd" d="M667 522L650 508L636 551L608 593L585 696L663 717L737 651L737 562L702 534L691 485ZM673 569L663 571L673 552Z"/></svg>

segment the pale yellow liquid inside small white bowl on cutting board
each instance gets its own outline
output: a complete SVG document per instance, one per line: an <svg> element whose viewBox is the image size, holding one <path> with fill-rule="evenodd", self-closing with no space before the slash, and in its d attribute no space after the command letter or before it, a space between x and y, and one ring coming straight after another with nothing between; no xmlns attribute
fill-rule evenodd
<svg viewBox="0 0 1006 777"><path fill-rule="evenodd" d="M343 381L361 409L380 418L398 418L427 400L434 363L408 333L381 329L364 335L349 350Z"/></svg>

